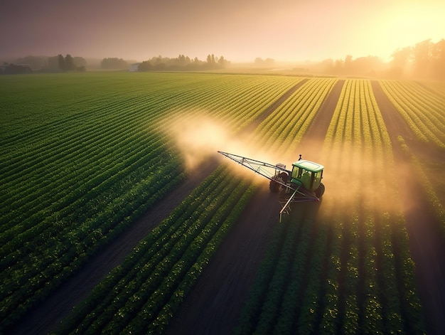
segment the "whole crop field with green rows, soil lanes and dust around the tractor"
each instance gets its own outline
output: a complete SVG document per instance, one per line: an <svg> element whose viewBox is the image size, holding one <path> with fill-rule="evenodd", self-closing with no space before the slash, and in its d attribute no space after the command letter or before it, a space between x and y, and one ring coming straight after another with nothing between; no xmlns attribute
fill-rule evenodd
<svg viewBox="0 0 445 335"><path fill-rule="evenodd" d="M441 334L445 85L0 77L0 333ZM279 222L223 150L325 166Z"/></svg>

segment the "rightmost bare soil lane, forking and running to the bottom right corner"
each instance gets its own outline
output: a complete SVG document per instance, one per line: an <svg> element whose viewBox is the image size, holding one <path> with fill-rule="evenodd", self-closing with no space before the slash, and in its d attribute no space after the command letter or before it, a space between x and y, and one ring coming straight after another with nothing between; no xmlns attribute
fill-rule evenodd
<svg viewBox="0 0 445 335"><path fill-rule="evenodd" d="M431 146L422 145L415 139L406 122L383 92L380 84L372 80L377 105L382 112L387 132L392 142L395 166L400 169L400 196L404 206L404 218L409 235L409 248L416 264L419 297L424 307L425 324L429 334L445 334L445 245L437 229L439 223L429 211L429 204L422 186L404 156L397 137L401 135L413 153L429 159L440 159Z"/></svg>

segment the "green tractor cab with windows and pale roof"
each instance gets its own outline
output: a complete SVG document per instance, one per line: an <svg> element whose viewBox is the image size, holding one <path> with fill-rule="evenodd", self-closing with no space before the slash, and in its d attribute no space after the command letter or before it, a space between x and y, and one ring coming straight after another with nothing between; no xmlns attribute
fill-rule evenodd
<svg viewBox="0 0 445 335"><path fill-rule="evenodd" d="M291 183L303 185L309 192L316 192L323 178L323 169L323 165L300 159L292 164Z"/></svg>

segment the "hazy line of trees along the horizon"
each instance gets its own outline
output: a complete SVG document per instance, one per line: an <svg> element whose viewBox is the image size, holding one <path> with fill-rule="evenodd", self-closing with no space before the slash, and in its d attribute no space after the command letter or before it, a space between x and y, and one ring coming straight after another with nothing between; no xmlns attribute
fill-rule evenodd
<svg viewBox="0 0 445 335"><path fill-rule="evenodd" d="M17 58L10 62L9 66L1 67L1 73L27 73L28 65L33 71L38 72L67 72L85 71L87 61L82 57L73 57L70 54L65 56L59 54L53 57L27 56ZM5 63L7 64L7 63ZM14 66L14 64L21 66ZM134 65L134 70L138 71L194 71L194 70L215 70L226 68L230 61L223 56L219 58L209 54L205 60L190 58L186 55L178 55L176 58L163 57L161 55L142 63L131 64L122 58L103 58L97 68L104 70L128 70ZM274 60L267 58L256 58L254 65L259 67L270 67L274 65ZM344 59L328 58L319 63L307 65L310 72L323 73L323 75L348 75L348 76L370 76L380 78L416 78L445 80L445 39L433 43L431 39L419 42L414 46L407 46L395 50L391 55L389 63L382 59L369 55L353 59L352 55L346 55Z"/></svg>

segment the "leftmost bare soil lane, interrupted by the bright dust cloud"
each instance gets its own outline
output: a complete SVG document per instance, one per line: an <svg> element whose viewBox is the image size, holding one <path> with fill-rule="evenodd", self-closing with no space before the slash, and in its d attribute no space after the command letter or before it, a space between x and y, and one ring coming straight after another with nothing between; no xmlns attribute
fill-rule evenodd
<svg viewBox="0 0 445 335"><path fill-rule="evenodd" d="M307 80L308 79L301 80L301 82L284 92L272 105L264 110L262 115L245 129L243 134L250 134L259 123L272 114L279 105L298 90L301 85L304 85ZM68 317L76 304L88 297L92 289L99 284L109 271L124 261L125 257L132 252L140 240L159 225L164 218L167 218L171 211L173 211L194 188L212 174L218 167L218 164L218 159L209 159L207 164L200 167L199 173L189 176L183 184L178 186L176 190L168 193L166 198L163 198L153 209L139 220L136 220L124 233L97 252L97 254L88 260L70 279L50 294L47 299L30 309L26 315L11 327L11 334L48 334L48 332L53 331L58 324L60 324L60 321ZM255 197L258 197L258 195ZM272 203L272 201L268 199L257 199L257 203ZM269 214L272 216L272 212ZM267 213L265 215L267 215ZM247 240L249 239L250 238L247 237Z"/></svg>

